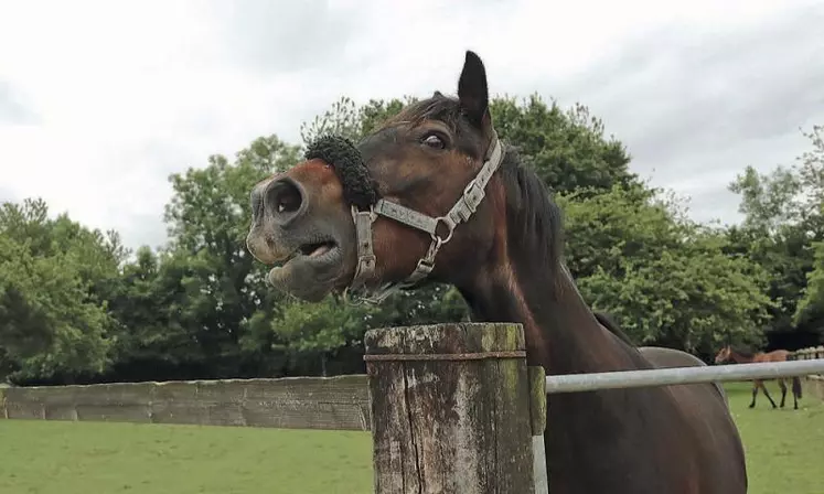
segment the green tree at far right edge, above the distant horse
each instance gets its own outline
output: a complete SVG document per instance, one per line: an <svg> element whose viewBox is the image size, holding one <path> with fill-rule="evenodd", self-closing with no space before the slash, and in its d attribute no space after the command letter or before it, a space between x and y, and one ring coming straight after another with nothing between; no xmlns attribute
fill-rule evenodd
<svg viewBox="0 0 824 494"><path fill-rule="evenodd" d="M747 167L729 185L741 196L739 211L745 214L740 227L728 229L729 248L746 254L769 273L768 296L775 302L771 309L771 340L789 344L815 341L801 333L817 332L824 325L814 280L815 250L824 240L824 143L822 127L804 132L812 150L804 152L792 167L779 165L761 174ZM807 289L807 280L813 283ZM800 333L793 343L781 333ZM780 344L783 346L783 344Z"/></svg>

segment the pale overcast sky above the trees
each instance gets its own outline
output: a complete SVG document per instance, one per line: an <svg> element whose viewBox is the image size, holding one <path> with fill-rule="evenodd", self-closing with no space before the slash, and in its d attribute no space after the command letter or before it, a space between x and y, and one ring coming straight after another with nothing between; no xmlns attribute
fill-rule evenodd
<svg viewBox="0 0 824 494"><path fill-rule="evenodd" d="M0 200L157 246L170 173L298 142L342 95L454 93L471 49L493 95L587 105L693 217L736 222L735 174L824 124L822 26L821 0L0 0Z"/></svg>

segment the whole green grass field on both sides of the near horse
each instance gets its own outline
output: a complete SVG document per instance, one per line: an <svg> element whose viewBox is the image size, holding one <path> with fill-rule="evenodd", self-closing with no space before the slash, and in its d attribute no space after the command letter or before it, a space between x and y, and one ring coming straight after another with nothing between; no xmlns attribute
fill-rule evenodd
<svg viewBox="0 0 824 494"><path fill-rule="evenodd" d="M750 410L749 385L728 389L749 492L824 492L824 405L772 410L760 396ZM0 420L0 493L372 493L371 444L361 432Z"/></svg>

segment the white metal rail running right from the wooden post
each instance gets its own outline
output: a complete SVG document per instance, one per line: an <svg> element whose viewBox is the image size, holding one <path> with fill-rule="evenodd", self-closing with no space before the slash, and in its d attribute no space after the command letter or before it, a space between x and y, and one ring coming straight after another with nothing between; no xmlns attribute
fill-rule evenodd
<svg viewBox="0 0 824 494"><path fill-rule="evenodd" d="M564 374L546 377L546 393L557 394L726 380L774 379L777 377L801 377L807 374L822 373L824 373L824 358L764 362L758 364L710 365L706 367Z"/></svg>

